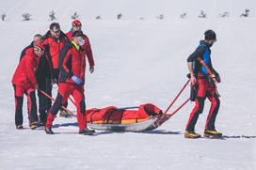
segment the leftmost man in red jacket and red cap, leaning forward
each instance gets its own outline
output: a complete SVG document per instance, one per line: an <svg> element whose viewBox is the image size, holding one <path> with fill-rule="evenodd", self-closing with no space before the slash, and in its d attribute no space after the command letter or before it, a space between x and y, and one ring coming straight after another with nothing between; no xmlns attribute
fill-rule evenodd
<svg viewBox="0 0 256 170"><path fill-rule="evenodd" d="M12 77L12 85L15 97L15 125L16 129L23 129L23 102L24 94L27 97L27 110L29 127L34 130L38 126L39 117L37 113L37 102L35 89L39 85L36 71L39 66L40 56L44 54L43 43L35 43L31 51L27 51L20 61Z"/></svg>

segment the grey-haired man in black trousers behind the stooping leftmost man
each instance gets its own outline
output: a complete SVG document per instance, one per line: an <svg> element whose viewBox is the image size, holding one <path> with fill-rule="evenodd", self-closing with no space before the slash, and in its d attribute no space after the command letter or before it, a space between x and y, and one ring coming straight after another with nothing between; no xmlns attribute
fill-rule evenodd
<svg viewBox="0 0 256 170"><path fill-rule="evenodd" d="M28 45L27 47L24 48L20 61L24 57L25 54L30 53L33 51L34 44L35 43L43 43L42 36L40 34L36 34L33 38L33 41ZM43 54L40 57L40 63L39 63L39 68L36 73L36 78L37 82L39 85L39 88L41 91L44 91L48 95L52 96L52 82L51 82L51 63L49 56L47 54ZM49 112L51 105L52 105L52 100L48 99L45 95L43 95L40 91L38 91L38 97L39 97L39 126L44 126L46 123L46 118L47 118L47 113Z"/></svg>

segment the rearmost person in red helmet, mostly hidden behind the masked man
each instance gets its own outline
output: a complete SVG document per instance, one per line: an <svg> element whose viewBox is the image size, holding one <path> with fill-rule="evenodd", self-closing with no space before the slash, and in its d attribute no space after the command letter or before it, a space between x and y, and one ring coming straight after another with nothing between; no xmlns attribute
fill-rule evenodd
<svg viewBox="0 0 256 170"><path fill-rule="evenodd" d="M68 33L66 33L68 39L72 40L72 33L74 31L81 31L81 28L82 28L82 23L79 20L74 20L72 22L72 29ZM92 73L94 71L94 65L95 65L94 59L93 59L89 39L86 35L84 35L84 36L85 36L85 44L81 47L82 54L87 55L88 64L89 64L89 72Z"/></svg>

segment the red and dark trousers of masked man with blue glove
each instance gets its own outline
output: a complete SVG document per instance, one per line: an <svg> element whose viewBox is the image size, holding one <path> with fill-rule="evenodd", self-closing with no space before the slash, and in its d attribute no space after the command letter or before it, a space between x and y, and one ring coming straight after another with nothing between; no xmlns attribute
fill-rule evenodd
<svg viewBox="0 0 256 170"><path fill-rule="evenodd" d="M52 128L53 121L62 104L72 95L77 109L77 121L79 131L87 129L86 102L84 95L84 85L74 85L67 83L59 83L56 101L51 107L47 116L46 127Z"/></svg>

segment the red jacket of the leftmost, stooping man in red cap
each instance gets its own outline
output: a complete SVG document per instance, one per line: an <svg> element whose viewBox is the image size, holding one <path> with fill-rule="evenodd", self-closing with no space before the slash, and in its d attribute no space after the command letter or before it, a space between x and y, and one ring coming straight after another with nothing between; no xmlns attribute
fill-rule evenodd
<svg viewBox="0 0 256 170"><path fill-rule="evenodd" d="M33 49L27 50L14 72L11 83L21 86L25 90L37 85L36 71L38 70L40 57L34 54Z"/></svg>

